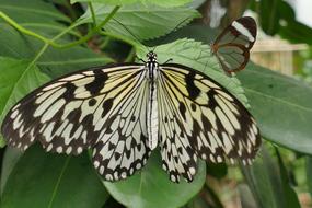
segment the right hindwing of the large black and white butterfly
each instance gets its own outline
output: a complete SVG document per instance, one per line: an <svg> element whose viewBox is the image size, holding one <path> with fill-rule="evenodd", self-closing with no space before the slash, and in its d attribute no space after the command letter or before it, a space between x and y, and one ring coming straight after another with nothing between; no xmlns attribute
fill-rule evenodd
<svg viewBox="0 0 312 208"><path fill-rule="evenodd" d="M176 97L181 95L176 92L178 86L170 82L165 74L159 77L158 86L160 151L163 169L173 182L178 182L180 175L190 182L196 174L197 155L187 139L186 129L188 128L178 117L177 102L183 97Z"/></svg>

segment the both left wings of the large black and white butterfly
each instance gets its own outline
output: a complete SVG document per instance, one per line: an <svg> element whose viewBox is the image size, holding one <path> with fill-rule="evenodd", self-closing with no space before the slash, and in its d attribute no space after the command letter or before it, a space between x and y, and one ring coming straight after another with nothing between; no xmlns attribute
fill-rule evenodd
<svg viewBox="0 0 312 208"><path fill-rule="evenodd" d="M145 73L136 65L96 68L47 83L12 107L2 134L8 145L23 150L34 141L67 154L92 148L101 175L125 178L150 154Z"/></svg>

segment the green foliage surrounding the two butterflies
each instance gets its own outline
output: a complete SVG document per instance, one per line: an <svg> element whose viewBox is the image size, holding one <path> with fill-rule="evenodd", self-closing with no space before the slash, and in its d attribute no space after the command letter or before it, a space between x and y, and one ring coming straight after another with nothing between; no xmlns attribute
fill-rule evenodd
<svg viewBox="0 0 312 208"><path fill-rule="evenodd" d="M305 63L311 53L298 56L296 78L254 63L238 77L227 77L210 55L209 44L218 34L207 25L212 1L0 0L1 119L19 99L48 80L88 67L134 61L135 55L143 58L149 49L145 44L158 46L160 62L173 58L229 89L250 107L264 139L253 165L200 162L190 184L171 183L157 151L140 173L107 183L96 175L88 152L66 157L34 146L22 153L1 139L1 207L311 206L307 193L312 192L312 88L303 81L312 74ZM267 35L312 44L311 28L296 21L286 1L220 3L227 9L220 27L250 9Z"/></svg>

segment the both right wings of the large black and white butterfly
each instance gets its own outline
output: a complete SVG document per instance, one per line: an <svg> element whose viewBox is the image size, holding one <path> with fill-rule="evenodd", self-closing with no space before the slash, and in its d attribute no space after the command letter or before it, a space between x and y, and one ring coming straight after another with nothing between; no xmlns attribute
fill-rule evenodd
<svg viewBox="0 0 312 208"><path fill-rule="evenodd" d="M261 145L254 118L226 89L180 65L160 67L160 148L163 169L192 181L197 157L251 163Z"/></svg>

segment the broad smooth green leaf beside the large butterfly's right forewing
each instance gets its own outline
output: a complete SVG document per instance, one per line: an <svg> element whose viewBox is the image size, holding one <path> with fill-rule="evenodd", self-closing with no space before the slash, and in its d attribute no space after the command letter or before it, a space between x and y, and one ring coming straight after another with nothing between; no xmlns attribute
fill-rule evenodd
<svg viewBox="0 0 312 208"><path fill-rule="evenodd" d="M253 63L238 77L262 135L280 146L311 154L312 88Z"/></svg>

